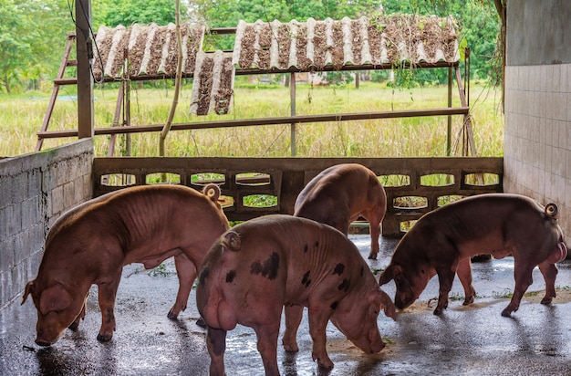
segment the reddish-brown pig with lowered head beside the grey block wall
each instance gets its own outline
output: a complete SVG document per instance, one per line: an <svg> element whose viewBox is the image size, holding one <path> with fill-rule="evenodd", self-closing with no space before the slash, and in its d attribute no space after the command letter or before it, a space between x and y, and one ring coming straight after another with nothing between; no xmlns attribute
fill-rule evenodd
<svg viewBox="0 0 571 376"><path fill-rule="evenodd" d="M174 256L179 291L169 311L186 308L202 258L229 227L214 184L203 194L177 185L130 187L79 204L47 234L36 279L26 285L37 308L36 343L49 346L64 329L77 329L91 285L99 287L102 323L98 339L115 330L115 297L124 265L155 267Z"/></svg>

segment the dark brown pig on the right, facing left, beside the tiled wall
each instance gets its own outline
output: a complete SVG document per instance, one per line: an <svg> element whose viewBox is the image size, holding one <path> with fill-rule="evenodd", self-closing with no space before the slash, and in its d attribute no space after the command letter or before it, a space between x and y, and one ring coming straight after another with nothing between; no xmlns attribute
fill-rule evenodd
<svg viewBox="0 0 571 376"><path fill-rule="evenodd" d="M555 263L567 255L556 213L555 204L544 208L529 197L507 193L479 194L442 206L420 217L400 239L379 285L395 280L395 305L402 309L419 298L431 277L438 275L440 292L434 314L440 315L448 307L456 273L464 287L463 304L473 302L470 257L512 254L514 295L502 316L509 317L519 308L535 266L545 279L541 303L549 304L555 298Z"/></svg>

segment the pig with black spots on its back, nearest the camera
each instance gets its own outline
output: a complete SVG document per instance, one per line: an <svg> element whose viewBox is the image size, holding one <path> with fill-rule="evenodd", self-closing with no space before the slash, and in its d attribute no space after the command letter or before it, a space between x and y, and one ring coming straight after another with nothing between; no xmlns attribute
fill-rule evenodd
<svg viewBox="0 0 571 376"><path fill-rule="evenodd" d="M208 325L211 375L224 374L226 331L237 324L254 329L265 373L279 374L284 306L286 331L287 307L308 308L313 359L327 369L333 367L326 351L327 320L359 349L374 353L385 347L379 309L395 318L392 301L347 236L284 214L255 218L223 234L204 257L196 301Z"/></svg>

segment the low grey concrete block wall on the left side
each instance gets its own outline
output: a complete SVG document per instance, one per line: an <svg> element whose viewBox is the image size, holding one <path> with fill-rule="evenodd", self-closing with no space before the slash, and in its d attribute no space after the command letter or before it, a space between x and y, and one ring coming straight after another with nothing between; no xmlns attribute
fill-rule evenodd
<svg viewBox="0 0 571 376"><path fill-rule="evenodd" d="M92 196L93 141L0 160L0 308L36 277L49 227Z"/></svg>

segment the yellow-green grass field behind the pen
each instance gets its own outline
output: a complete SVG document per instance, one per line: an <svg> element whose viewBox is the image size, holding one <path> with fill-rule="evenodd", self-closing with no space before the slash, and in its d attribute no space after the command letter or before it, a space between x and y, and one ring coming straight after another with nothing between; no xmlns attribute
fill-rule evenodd
<svg viewBox="0 0 571 376"><path fill-rule="evenodd" d="M74 87L62 87L49 131L77 128ZM239 120L290 115L289 88L236 84L233 109L228 115L198 117L189 113L191 85L182 89L174 123L202 120ZM50 92L0 96L0 156L34 151ZM118 89L95 89L95 126L108 127L116 107ZM460 106L452 90L453 106ZM131 89L131 125L163 124L171 109L172 89ZM480 156L504 155L504 117L499 90L472 85L472 130ZM385 84L361 82L342 88L297 84L296 114L332 114L379 110L432 109L447 106L447 88L391 89ZM452 142L462 128L462 116L452 121ZM306 123L296 126L300 157L429 157L446 155L446 117L393 120ZM44 149L75 139L51 139ZM172 131L166 140L167 156L284 157L290 155L290 125L234 129ZM109 136L97 136L97 156L108 153ZM118 136L115 155L125 155L125 136ZM462 151L457 149L456 155ZM159 133L130 135L130 155L157 156Z"/></svg>

